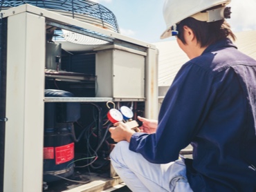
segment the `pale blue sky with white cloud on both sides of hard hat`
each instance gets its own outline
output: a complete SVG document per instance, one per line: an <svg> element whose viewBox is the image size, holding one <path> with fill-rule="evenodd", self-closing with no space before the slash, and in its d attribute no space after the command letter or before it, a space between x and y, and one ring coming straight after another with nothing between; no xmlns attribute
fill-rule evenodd
<svg viewBox="0 0 256 192"><path fill-rule="evenodd" d="M163 3L165 0L91 0L100 3L113 12L122 35L156 43L165 30ZM181 0L182 1L182 0ZM193 0L191 0L193 1ZM231 19L234 32L256 30L256 0L232 0Z"/></svg>

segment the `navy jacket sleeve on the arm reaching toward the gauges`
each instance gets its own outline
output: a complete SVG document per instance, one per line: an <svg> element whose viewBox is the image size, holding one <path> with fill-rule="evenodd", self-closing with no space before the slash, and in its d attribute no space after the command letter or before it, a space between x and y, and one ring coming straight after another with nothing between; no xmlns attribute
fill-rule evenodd
<svg viewBox="0 0 256 192"><path fill-rule="evenodd" d="M204 68L185 64L165 95L156 133L134 133L129 149L152 163L177 160L179 151L192 142L207 116L214 99L213 79Z"/></svg>

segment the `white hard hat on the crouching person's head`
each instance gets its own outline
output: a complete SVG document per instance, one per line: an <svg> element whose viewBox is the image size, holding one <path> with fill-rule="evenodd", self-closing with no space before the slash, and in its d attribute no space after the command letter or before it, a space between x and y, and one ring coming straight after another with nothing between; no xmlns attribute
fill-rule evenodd
<svg viewBox="0 0 256 192"><path fill-rule="evenodd" d="M175 34L176 24L188 17L208 22L228 18L224 16L224 6L230 2L231 0L165 0L163 17L167 29L163 32L163 35L161 35L161 39L171 37L173 32ZM219 5L222 5L222 7L209 12L201 12ZM230 10L228 13L230 14Z"/></svg>

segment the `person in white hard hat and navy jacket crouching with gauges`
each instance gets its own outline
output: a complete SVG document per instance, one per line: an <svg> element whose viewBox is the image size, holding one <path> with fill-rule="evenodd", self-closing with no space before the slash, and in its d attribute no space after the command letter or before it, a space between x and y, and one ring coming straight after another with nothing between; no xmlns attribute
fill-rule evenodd
<svg viewBox="0 0 256 192"><path fill-rule="evenodd" d="M176 36L190 61L158 122L138 117L145 133L109 129L111 162L132 191L256 191L256 61L232 43L230 1L165 1L161 38ZM179 158L188 144L192 160Z"/></svg>

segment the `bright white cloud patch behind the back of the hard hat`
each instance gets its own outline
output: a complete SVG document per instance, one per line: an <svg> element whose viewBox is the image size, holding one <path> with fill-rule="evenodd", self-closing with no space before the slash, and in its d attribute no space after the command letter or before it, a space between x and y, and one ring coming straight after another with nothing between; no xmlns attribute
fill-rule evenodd
<svg viewBox="0 0 256 192"><path fill-rule="evenodd" d="M234 31L256 30L256 0L234 0L230 6L232 14L228 22Z"/></svg>

